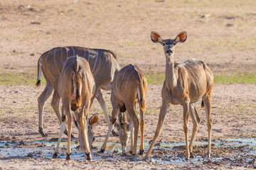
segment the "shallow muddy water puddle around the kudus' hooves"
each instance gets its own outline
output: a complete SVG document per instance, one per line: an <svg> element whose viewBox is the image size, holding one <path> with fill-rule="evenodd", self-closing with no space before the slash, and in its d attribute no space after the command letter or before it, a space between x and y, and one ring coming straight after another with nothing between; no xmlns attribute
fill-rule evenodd
<svg viewBox="0 0 256 170"><path fill-rule="evenodd" d="M92 159L108 161L124 160L142 162L142 156L132 157L122 153L119 142L108 142L105 153L98 153L103 142L93 142ZM144 142L144 149L149 149L150 142ZM49 141L0 141L2 157L46 157L51 158L57 142ZM65 159L67 142L61 142L58 157ZM222 139L212 142L211 158L206 157L208 142L195 142L193 154L185 160L185 142L157 142L151 154L150 162L161 164L217 164L256 168L256 138ZM77 140L71 143L71 159L85 159ZM129 150L129 148L127 148ZM139 149L139 144L138 144Z"/></svg>

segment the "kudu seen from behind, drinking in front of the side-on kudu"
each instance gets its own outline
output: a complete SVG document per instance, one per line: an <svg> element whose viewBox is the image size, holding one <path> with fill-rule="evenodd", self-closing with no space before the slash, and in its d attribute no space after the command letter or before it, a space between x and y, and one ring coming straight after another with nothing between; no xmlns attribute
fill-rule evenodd
<svg viewBox="0 0 256 170"><path fill-rule="evenodd" d="M53 158L57 157L61 136L65 129L65 119L68 117L68 151L66 159L70 159L72 114L75 112L75 124L79 130L79 144L87 159L92 159L90 144L87 133L87 113L90 108L91 98L95 92L95 80L90 71L90 65L82 57L69 57L64 62L63 69L58 79L58 94L63 103L62 123L60 125L60 136L55 148ZM70 111L71 110L71 111ZM92 139L92 137L91 137Z"/></svg>

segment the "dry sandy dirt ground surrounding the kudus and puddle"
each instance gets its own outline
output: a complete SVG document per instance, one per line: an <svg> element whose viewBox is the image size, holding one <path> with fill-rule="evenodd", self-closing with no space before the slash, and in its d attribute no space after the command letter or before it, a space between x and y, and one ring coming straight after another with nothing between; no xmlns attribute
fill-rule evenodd
<svg viewBox="0 0 256 170"><path fill-rule="evenodd" d="M163 38L175 38L186 30L186 42L177 45L175 60L188 58L203 60L215 75L255 74L256 65L256 2L207 0L142 0L142 1L48 1L24 0L0 2L0 73L33 74L36 84L38 57L53 47L76 45L113 50L123 67L137 64L143 72L164 72L165 57L162 47L150 40L151 30ZM162 84L149 84L146 95L146 126L144 140L150 141L156 130L161 107ZM60 124L48 99L44 111L44 130L48 137L38 133L37 98L44 84L0 85L0 140L29 142L58 137ZM212 139L255 137L256 84L215 84L213 89ZM108 113L111 113L110 91L104 91ZM51 97L50 97L51 98ZM208 137L205 113L201 115L196 140ZM90 114L98 113L100 123L95 128L97 141L107 134L107 123L95 101ZM158 140L184 141L182 107L171 106ZM189 122L191 135L192 123ZM75 136L78 132L73 128ZM118 141L110 137L110 141ZM28 147L24 145L23 147ZM43 148L42 148L43 149ZM183 147L168 151L177 155ZM245 148L240 148L242 149ZM1 148L0 148L1 150ZM213 157L234 152L233 148L213 146ZM205 147L196 147L197 154L206 154ZM163 150L152 153L161 157ZM183 156L182 156L183 157ZM254 157L254 158L253 158ZM138 156L142 159L142 156ZM4 157L0 155L0 169L247 169L256 168L255 151L252 160L221 164L210 160L202 164L161 164L134 162L124 159L85 160L48 159L45 157Z"/></svg>

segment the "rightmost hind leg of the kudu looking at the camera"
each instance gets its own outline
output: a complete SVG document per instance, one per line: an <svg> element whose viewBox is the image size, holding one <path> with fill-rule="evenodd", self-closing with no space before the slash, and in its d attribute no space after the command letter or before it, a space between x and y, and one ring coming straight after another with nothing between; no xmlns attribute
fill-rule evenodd
<svg viewBox="0 0 256 170"><path fill-rule="evenodd" d="M210 158L210 152L211 152L211 148L210 148L210 142L211 142L211 131L212 131L212 127L213 127L213 123L211 120L211 96L205 96L203 98L203 102L205 104L205 111L206 111L206 121L207 121L207 128L208 128L208 151L207 151L207 156Z"/></svg>

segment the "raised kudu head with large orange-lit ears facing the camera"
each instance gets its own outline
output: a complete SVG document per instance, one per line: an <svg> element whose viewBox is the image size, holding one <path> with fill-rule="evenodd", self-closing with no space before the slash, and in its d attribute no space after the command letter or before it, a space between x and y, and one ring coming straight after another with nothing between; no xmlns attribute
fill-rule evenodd
<svg viewBox="0 0 256 170"><path fill-rule="evenodd" d="M159 42L161 45L163 45L164 54L166 55L166 57L168 57L169 60L171 60L171 58L174 57L176 44L178 42L185 42L186 38L187 38L186 31L182 31L181 33L178 33L178 35L174 40L171 40L171 39L163 40L163 38L161 38L161 35L159 35L159 33L156 33L154 31L151 32L151 40L153 42Z"/></svg>

